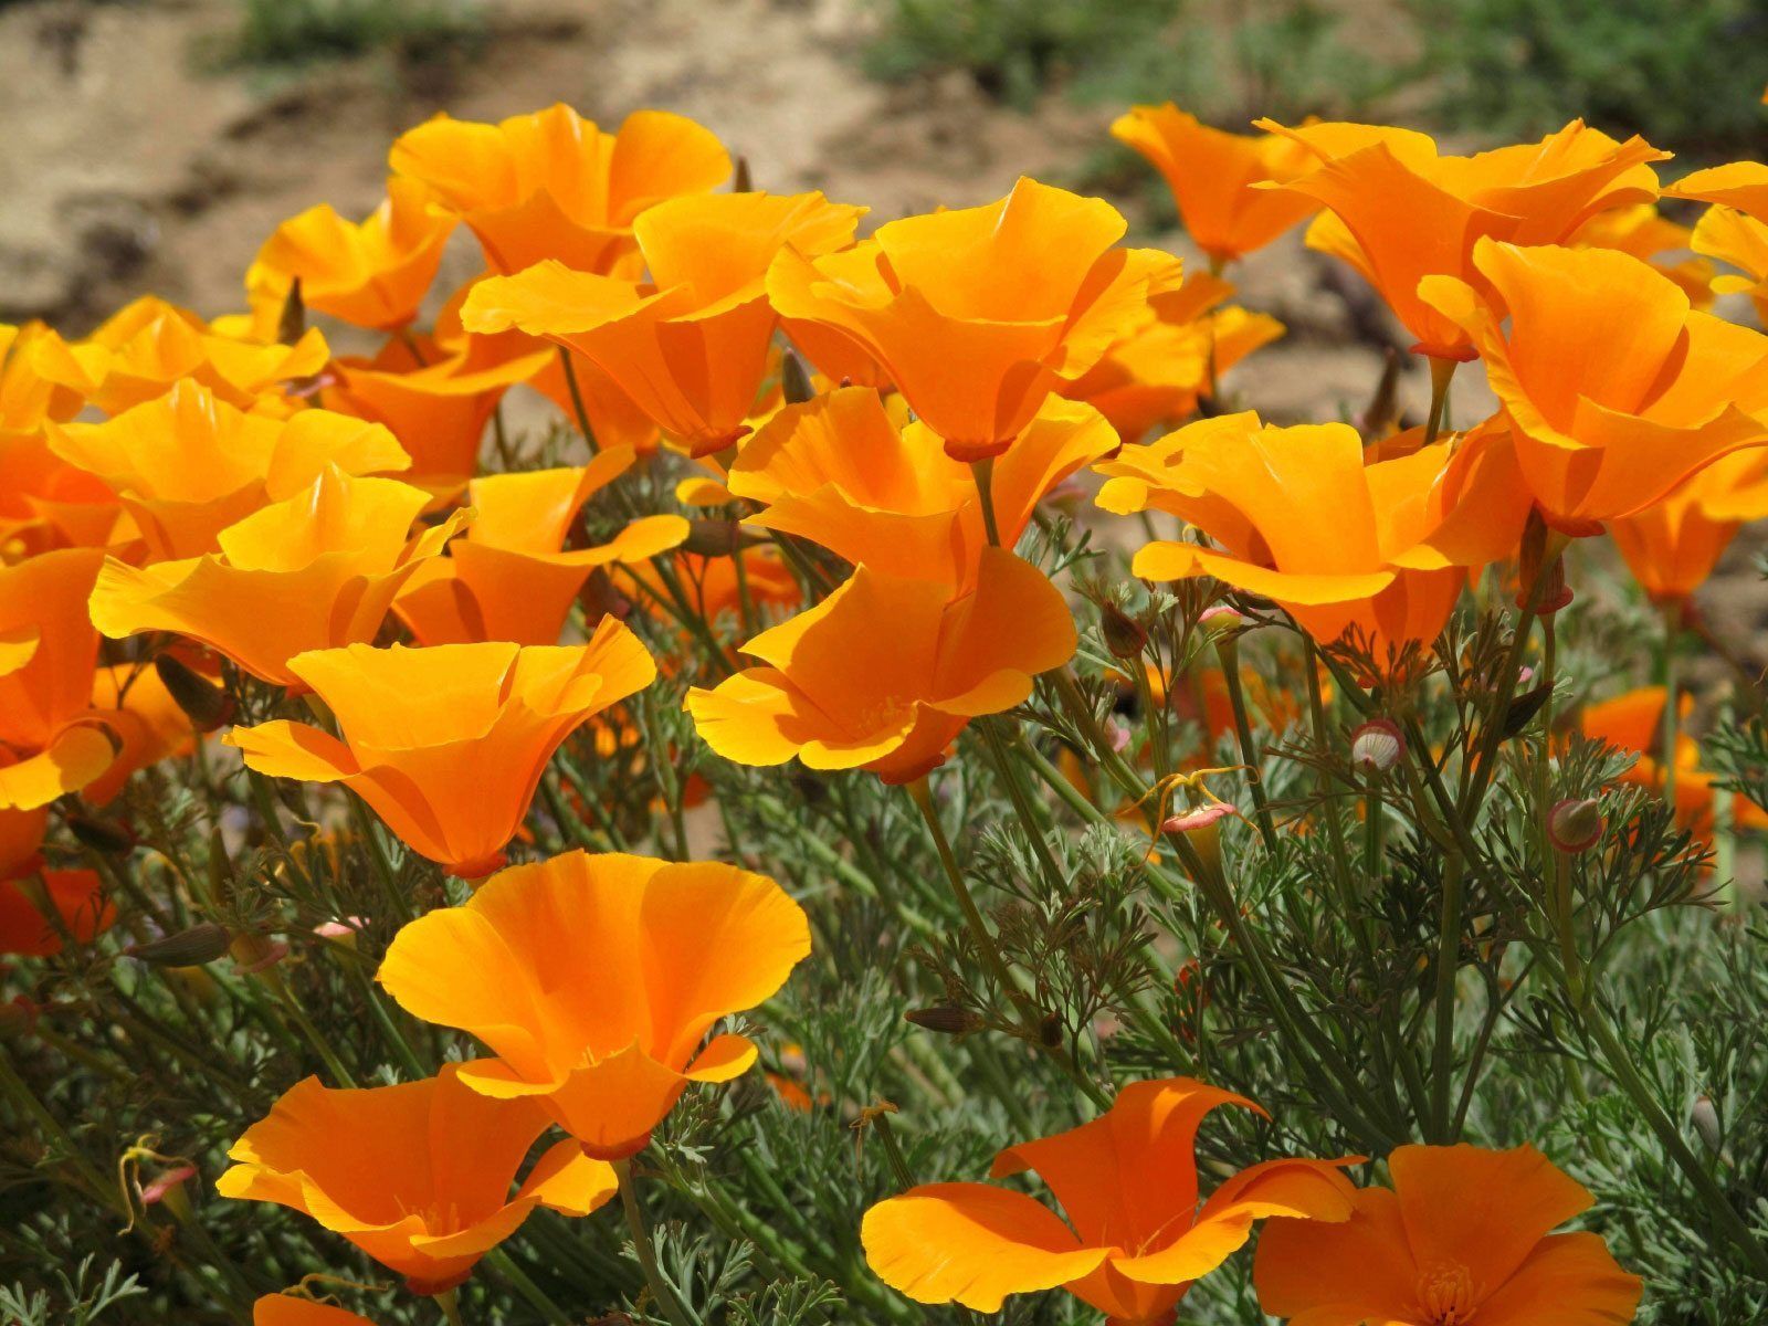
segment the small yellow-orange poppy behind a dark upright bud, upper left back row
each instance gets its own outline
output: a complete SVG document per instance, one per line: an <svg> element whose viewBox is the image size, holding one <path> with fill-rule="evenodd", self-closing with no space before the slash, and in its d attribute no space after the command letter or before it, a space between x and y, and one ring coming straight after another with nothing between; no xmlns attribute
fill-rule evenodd
<svg viewBox="0 0 1768 1326"><path fill-rule="evenodd" d="M258 249L246 286L281 302L301 281L301 301L357 327L403 327L442 263L456 217L431 207L417 180L387 180L387 198L362 221L329 203L283 221Z"/></svg>

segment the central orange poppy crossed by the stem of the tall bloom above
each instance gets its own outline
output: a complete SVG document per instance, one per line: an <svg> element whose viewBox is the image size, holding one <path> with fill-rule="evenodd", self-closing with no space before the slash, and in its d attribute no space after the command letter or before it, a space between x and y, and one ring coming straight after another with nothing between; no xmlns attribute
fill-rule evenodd
<svg viewBox="0 0 1768 1326"><path fill-rule="evenodd" d="M1098 410L1050 398L995 465L1001 545L1013 546L1055 484L1116 446ZM898 428L870 387L780 410L737 453L728 486L762 504L748 523L879 575L967 587L988 543L971 467L951 460L925 423Z"/></svg>

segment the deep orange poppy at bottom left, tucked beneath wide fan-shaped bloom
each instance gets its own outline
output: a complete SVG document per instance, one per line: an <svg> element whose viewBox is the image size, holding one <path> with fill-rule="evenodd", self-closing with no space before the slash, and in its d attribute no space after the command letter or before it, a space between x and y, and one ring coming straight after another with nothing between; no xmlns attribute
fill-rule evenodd
<svg viewBox="0 0 1768 1326"><path fill-rule="evenodd" d="M233 1144L237 1163L216 1192L301 1211L414 1292L440 1294L537 1206L580 1216L619 1190L610 1165L562 1140L511 1193L545 1130L532 1101L472 1091L458 1064L423 1082L350 1091L309 1077Z"/></svg>

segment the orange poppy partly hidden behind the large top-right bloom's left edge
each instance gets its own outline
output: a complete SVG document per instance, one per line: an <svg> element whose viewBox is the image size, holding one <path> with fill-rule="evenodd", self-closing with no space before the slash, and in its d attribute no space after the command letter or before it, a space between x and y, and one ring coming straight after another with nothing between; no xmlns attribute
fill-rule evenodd
<svg viewBox="0 0 1768 1326"><path fill-rule="evenodd" d="M1133 106L1112 122L1110 134L1165 177L1185 233L1216 265L1264 248L1319 210L1303 194L1252 187L1261 180L1284 184L1315 166L1314 154L1287 138L1211 129L1170 101Z"/></svg>

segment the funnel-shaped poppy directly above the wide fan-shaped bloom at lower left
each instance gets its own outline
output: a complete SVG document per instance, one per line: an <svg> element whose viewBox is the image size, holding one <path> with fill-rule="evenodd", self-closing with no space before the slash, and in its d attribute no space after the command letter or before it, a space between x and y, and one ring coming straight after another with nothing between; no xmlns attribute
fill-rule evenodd
<svg viewBox="0 0 1768 1326"><path fill-rule="evenodd" d="M461 879L502 865L559 744L656 679L638 636L610 617L583 645L347 645L297 654L288 670L345 741L288 721L225 741L272 778L343 783Z"/></svg>

